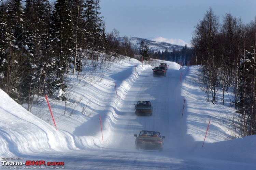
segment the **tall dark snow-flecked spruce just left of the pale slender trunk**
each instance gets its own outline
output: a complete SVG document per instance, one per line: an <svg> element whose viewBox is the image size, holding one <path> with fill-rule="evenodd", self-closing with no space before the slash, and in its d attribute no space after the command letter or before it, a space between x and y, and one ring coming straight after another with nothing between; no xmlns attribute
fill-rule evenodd
<svg viewBox="0 0 256 170"><path fill-rule="evenodd" d="M56 79L53 84L56 90L64 90L64 73L68 69L72 43L72 25L66 0L57 0L52 14L51 36Z"/></svg>

